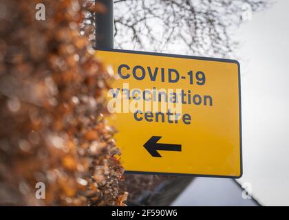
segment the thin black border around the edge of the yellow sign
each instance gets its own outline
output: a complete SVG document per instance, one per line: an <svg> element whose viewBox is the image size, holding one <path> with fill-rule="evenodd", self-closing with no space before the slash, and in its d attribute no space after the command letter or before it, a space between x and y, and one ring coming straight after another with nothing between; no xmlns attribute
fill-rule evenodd
<svg viewBox="0 0 289 220"><path fill-rule="evenodd" d="M125 173L134 173L134 174L150 174L150 175L178 175L178 176L193 176L193 177L217 177L217 178L234 178L239 179L243 175L243 153L242 153L242 107L241 107L241 71L240 64L236 60L224 59L224 58L210 58L204 56L189 56L189 55L178 55L178 54L160 54L155 52L141 52L135 50L118 50L118 49L97 49L99 51L108 51L108 52L119 52L127 54L142 54L142 55L152 55L152 56L167 56L174 58L187 58L193 60L201 61L216 61L224 63L235 63L238 66L238 86L239 86L239 147L240 147L240 175L239 176L224 176L224 175L199 175L199 174L189 174L189 173L158 173L158 172L142 172L142 171L131 171L125 170ZM96 51L97 51L96 50Z"/></svg>

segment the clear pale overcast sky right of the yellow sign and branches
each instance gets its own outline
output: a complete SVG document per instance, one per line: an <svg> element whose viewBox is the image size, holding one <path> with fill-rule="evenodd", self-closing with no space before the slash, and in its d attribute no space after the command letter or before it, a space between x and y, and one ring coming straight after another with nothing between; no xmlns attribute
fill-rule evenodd
<svg viewBox="0 0 289 220"><path fill-rule="evenodd" d="M253 14L242 42L244 175L264 205L289 206L289 1Z"/></svg>

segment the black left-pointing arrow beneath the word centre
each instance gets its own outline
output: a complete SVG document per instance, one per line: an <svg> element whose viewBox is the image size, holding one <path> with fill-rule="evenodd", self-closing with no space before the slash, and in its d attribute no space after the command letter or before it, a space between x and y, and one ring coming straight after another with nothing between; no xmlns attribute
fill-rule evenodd
<svg viewBox="0 0 289 220"><path fill-rule="evenodd" d="M152 136L144 144L144 148L153 156L153 157L162 157L158 151L182 151L181 144L160 144L157 143L160 140L159 136Z"/></svg>

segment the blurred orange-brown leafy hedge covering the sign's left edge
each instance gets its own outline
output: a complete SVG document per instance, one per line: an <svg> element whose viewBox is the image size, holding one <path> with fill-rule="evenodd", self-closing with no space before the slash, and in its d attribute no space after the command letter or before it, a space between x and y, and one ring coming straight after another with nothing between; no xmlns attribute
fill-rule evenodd
<svg viewBox="0 0 289 220"><path fill-rule="evenodd" d="M45 0L36 21L36 3L0 0L0 203L123 205L104 116L110 76L89 47L92 27L81 26L98 7ZM39 181L45 199L35 198Z"/></svg>

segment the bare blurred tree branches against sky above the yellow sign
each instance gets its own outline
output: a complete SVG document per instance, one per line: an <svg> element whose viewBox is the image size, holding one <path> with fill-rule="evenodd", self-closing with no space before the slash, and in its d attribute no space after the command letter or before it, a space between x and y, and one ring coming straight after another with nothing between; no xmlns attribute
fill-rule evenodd
<svg viewBox="0 0 289 220"><path fill-rule="evenodd" d="M200 56L230 56L231 35L244 8L257 12L270 0L116 0L116 47ZM244 5L246 7L244 7Z"/></svg>

